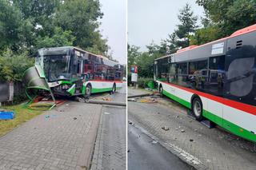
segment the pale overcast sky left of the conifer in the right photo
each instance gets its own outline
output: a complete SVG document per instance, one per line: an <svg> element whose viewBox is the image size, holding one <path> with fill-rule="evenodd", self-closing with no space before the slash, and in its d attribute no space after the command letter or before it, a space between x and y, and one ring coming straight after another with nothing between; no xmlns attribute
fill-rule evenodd
<svg viewBox="0 0 256 170"><path fill-rule="evenodd" d="M168 38L178 25L178 12L189 2L199 19L203 16L202 6L196 0L128 0L128 43L146 50L152 40L159 44ZM200 22L198 22L200 23Z"/></svg>

